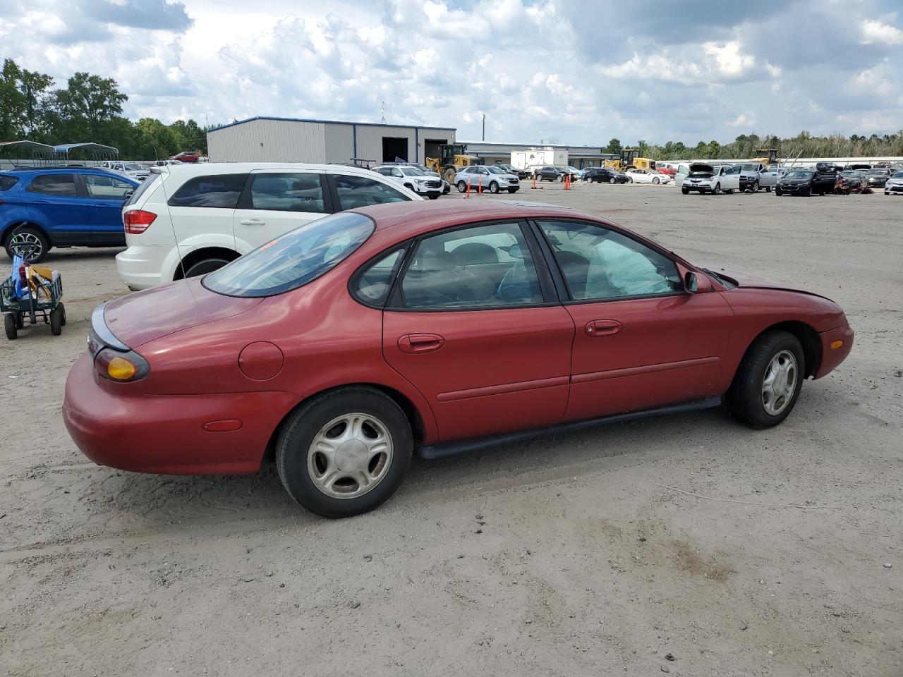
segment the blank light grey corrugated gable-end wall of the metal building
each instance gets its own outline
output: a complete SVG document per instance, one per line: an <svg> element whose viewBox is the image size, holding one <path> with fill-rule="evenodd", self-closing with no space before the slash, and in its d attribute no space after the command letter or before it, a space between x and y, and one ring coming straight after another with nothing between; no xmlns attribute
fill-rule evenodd
<svg viewBox="0 0 903 677"><path fill-rule="evenodd" d="M207 134L210 162L326 162L326 125L250 120ZM350 157L350 155L349 155Z"/></svg>

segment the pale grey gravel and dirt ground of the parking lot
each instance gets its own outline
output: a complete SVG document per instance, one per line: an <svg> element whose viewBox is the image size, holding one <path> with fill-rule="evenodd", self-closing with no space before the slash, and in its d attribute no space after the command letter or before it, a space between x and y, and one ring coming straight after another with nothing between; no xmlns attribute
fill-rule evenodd
<svg viewBox="0 0 903 677"><path fill-rule="evenodd" d="M326 521L272 468L155 477L79 453L63 383L90 311L126 290L115 251L57 250L63 335L0 342L0 672L903 674L903 199L517 199L824 293L852 355L775 429L712 410L414 459L382 508Z"/></svg>

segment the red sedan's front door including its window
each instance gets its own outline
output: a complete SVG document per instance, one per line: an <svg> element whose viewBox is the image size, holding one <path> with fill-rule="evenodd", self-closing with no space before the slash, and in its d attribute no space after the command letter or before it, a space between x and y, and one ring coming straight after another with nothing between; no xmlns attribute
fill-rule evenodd
<svg viewBox="0 0 903 677"><path fill-rule="evenodd" d="M565 418L581 420L721 393L731 307L690 294L665 252L600 224L539 219L575 327Z"/></svg>

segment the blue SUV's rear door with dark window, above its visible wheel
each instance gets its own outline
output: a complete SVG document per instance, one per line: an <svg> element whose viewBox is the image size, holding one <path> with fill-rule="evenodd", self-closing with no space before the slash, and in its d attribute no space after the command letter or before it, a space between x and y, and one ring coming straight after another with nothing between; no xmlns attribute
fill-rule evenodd
<svg viewBox="0 0 903 677"><path fill-rule="evenodd" d="M25 189L31 194L28 208L50 232L54 245L87 245L91 240L88 204L79 195L74 173L36 175Z"/></svg>

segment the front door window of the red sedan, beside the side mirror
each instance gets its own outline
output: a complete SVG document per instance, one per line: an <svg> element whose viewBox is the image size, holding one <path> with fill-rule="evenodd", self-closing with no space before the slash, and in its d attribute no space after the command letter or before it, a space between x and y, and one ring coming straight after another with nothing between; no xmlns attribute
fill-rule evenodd
<svg viewBox="0 0 903 677"><path fill-rule="evenodd" d="M675 263L628 236L579 221L540 221L575 301L683 292Z"/></svg>

